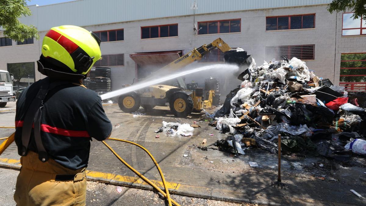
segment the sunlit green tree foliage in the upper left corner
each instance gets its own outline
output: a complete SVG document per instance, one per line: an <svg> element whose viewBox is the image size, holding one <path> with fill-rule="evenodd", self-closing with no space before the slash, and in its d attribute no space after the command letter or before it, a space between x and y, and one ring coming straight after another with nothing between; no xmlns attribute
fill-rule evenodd
<svg viewBox="0 0 366 206"><path fill-rule="evenodd" d="M22 15L31 15L25 0L0 0L0 26L4 36L15 41L24 41L33 37L39 39L36 27L20 23L18 18Z"/></svg>

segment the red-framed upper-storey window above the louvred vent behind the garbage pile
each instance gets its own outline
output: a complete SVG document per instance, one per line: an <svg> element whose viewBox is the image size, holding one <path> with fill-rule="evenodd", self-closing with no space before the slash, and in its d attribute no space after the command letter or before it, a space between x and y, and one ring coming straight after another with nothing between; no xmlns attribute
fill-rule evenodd
<svg viewBox="0 0 366 206"><path fill-rule="evenodd" d="M315 14L266 18L266 31L315 28Z"/></svg>

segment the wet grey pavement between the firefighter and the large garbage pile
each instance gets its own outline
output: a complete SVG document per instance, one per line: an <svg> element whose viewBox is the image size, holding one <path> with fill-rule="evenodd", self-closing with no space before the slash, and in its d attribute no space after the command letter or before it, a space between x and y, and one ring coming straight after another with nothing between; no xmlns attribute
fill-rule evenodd
<svg viewBox="0 0 366 206"><path fill-rule="evenodd" d="M118 106L104 105L105 112L113 127L111 137L130 140L141 144L151 152L165 179L172 183L172 192L188 196L209 199L250 202L264 205L365 205L366 202L350 192L351 189L366 197L365 158L352 157L350 162L342 163L321 157L297 157L284 155L282 161L282 180L287 190L271 187L277 180L277 155L258 148L245 150L246 154L239 157L209 149L203 151L197 146L203 139L207 145L216 140L225 139L228 135L199 121L202 114L192 114L187 118L176 118L168 107L156 107L152 111L139 110L146 115L124 113ZM0 126L14 125L15 111L0 113ZM193 136L166 136L158 133L161 122L179 122L197 124ZM14 129L1 129L0 137L9 136ZM210 136L209 134L213 134ZM132 167L151 180L160 180L157 169L151 159L140 148L119 141L108 140L107 143ZM185 154L186 157L183 155ZM8 160L4 160L4 159ZM1 165L12 165L9 159L19 159L15 144L12 144L1 156ZM258 168L251 168L248 161L258 163ZM320 166L322 164L322 166ZM126 184L134 187L149 185L138 184L136 181L126 183L126 177L136 177L124 166L102 143L93 140L88 170L113 174L93 176L101 181L115 184ZM109 175L111 176L111 175ZM117 178L119 177L119 178ZM121 180L121 177L123 181ZM323 180L324 179L324 180Z"/></svg>

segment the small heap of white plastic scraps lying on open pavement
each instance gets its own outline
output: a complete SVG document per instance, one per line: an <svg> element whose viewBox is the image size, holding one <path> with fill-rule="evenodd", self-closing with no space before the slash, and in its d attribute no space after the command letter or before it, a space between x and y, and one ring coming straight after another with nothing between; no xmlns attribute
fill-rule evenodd
<svg viewBox="0 0 366 206"><path fill-rule="evenodd" d="M154 131L155 133L165 132L167 136L192 136L194 128L190 124L180 124L178 122L162 122L163 126Z"/></svg>

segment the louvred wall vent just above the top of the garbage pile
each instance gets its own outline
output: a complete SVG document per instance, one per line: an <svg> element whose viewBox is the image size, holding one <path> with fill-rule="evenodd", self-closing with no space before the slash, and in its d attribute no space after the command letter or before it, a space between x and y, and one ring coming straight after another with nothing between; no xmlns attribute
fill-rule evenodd
<svg viewBox="0 0 366 206"><path fill-rule="evenodd" d="M291 45L291 46L271 46L266 47L266 59L283 59L281 56L292 57L301 60L314 59L315 45Z"/></svg>

